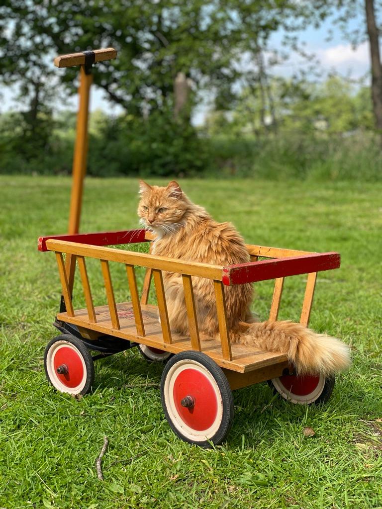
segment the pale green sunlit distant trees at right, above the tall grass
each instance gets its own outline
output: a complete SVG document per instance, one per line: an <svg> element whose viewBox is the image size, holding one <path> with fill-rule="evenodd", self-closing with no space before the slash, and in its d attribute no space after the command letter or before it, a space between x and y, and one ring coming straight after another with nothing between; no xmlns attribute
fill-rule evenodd
<svg viewBox="0 0 382 509"><path fill-rule="evenodd" d="M278 119L281 135L289 131L342 134L372 128L372 104L367 88L357 90L340 76L330 76L323 83L277 77L268 86L274 100L273 115L267 105L262 112L263 98L259 87L244 88L230 115L223 111L208 115L208 133L213 136L231 133L263 137L272 131L274 116Z"/></svg>

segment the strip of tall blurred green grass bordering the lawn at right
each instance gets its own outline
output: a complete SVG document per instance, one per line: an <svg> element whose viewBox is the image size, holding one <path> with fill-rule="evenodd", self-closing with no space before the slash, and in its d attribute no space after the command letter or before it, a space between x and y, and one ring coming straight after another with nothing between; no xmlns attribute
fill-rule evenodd
<svg viewBox="0 0 382 509"><path fill-rule="evenodd" d="M269 180L376 182L382 180L382 159L376 135L348 136L284 133L272 138L219 137L211 140L215 161L210 175Z"/></svg>

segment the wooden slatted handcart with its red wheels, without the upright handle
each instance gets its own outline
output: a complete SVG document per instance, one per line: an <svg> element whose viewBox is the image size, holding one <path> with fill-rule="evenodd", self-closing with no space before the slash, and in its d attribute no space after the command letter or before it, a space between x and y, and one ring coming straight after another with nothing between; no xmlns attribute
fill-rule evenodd
<svg viewBox="0 0 382 509"><path fill-rule="evenodd" d="M62 285L62 308L54 324L62 334L50 341L44 358L46 376L56 389L74 394L87 393L93 385L94 360L137 347L147 360L166 361L161 378L161 400L171 428L183 440L203 446L210 442L219 444L226 437L233 419L234 389L270 381L274 390L292 403L318 403L330 397L333 378L323 375L298 377L283 354L231 345L225 287L275 279L269 320L277 320L284 278L308 274L300 320L308 325L317 272L338 268L338 253L248 245L251 262L223 267L105 247L150 240L152 234L145 230L39 239L40 251L56 254ZM267 260L258 261L258 257ZM86 267L90 258L100 261L106 305L93 304ZM72 304L76 263L85 309L74 309ZM110 263L125 265L131 302L116 302ZM135 266L146 268L141 296ZM163 271L175 272L182 277L189 337L170 329ZM200 341L193 277L213 280L220 341ZM157 306L148 304L152 278ZM249 326L241 325L243 328ZM92 357L90 350L99 351L99 354Z"/></svg>

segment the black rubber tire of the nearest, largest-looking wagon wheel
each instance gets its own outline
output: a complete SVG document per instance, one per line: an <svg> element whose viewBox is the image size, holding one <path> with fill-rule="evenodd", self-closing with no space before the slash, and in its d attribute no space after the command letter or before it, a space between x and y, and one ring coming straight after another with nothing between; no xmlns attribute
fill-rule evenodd
<svg viewBox="0 0 382 509"><path fill-rule="evenodd" d="M215 394L220 395L221 404L222 404L222 415L220 420L219 429L216 430L210 437L197 437L192 438L187 436L185 433L181 431L181 419L178 422L174 422L168 408L168 404L166 402L166 381L168 377L171 377L171 372L176 369L179 363L184 363L184 361L189 361L194 365L200 364L214 379L216 383L216 387L213 388ZM217 390L216 390L217 389ZM200 445L201 447L212 447L212 444L219 445L222 443L231 426L234 416L234 406L233 406L233 397L232 390L228 383L227 377L223 373L222 369L214 362L210 357L201 352L195 351L185 351L174 355L165 365L163 369L161 383L160 383L160 397L162 401L163 411L165 412L166 419L169 422L171 429L174 431L178 437L180 437L184 442L192 443ZM169 396L167 396L169 398ZM219 420L217 421L219 423Z"/></svg>

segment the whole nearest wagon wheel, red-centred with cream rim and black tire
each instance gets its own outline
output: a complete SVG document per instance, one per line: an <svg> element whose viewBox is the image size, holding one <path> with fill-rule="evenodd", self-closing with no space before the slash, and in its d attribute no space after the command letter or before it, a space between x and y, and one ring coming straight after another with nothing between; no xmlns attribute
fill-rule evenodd
<svg viewBox="0 0 382 509"><path fill-rule="evenodd" d="M234 413L232 391L207 355L174 355L162 373L161 399L171 428L185 442L210 447L226 438Z"/></svg>

